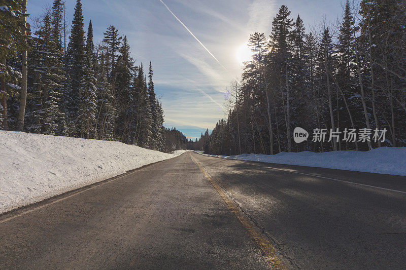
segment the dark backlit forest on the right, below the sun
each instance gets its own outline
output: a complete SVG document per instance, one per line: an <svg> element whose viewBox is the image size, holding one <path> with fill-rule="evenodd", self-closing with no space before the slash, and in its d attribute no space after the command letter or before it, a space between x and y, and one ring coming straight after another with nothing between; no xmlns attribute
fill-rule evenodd
<svg viewBox="0 0 406 270"><path fill-rule="evenodd" d="M341 22L306 31L286 6L269 38L251 34L252 60L232 83L228 118L202 134L197 148L217 155L281 151L368 150L406 146L406 2L349 1ZM312 133L387 130L385 141L339 138L292 142ZM381 132L382 135L382 132ZM327 139L329 134L327 134Z"/></svg>

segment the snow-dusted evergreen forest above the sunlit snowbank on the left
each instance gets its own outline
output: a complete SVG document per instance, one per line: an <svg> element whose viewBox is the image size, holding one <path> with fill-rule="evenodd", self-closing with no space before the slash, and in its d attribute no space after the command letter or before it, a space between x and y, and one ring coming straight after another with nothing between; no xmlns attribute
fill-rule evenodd
<svg viewBox="0 0 406 270"><path fill-rule="evenodd" d="M171 132L163 127L152 64L145 74L115 26L95 45L91 20L84 30L80 0L69 33L61 0L32 26L26 23L26 5L0 0L0 129L161 151L172 150L169 141L181 142L165 138Z"/></svg>

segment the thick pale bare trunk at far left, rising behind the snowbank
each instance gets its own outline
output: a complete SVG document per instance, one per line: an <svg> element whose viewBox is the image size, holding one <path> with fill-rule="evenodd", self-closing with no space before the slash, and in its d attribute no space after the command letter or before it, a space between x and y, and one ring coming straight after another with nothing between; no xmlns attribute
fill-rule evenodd
<svg viewBox="0 0 406 270"><path fill-rule="evenodd" d="M27 12L27 0L22 1L22 13ZM24 41L26 43L27 38L25 37L27 34L27 19L23 16L21 22L21 33L24 35ZM27 101L27 50L22 52L22 81L21 81L21 96L20 96L20 109L18 111L18 121L17 121L17 131L23 131L24 129L24 117L25 117L25 104Z"/></svg>

